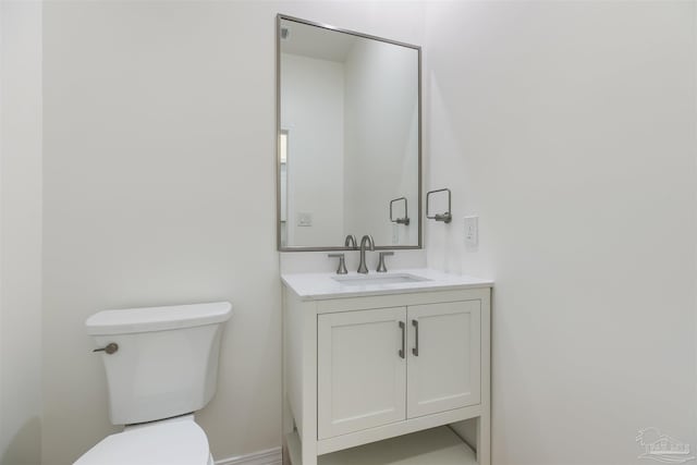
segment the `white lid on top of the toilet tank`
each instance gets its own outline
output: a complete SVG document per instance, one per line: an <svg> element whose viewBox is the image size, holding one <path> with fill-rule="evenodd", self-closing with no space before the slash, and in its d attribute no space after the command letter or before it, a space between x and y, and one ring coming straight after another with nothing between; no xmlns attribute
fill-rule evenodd
<svg viewBox="0 0 697 465"><path fill-rule="evenodd" d="M87 318L85 326L91 335L129 334L215 325L227 321L231 315L229 302L125 308L99 311Z"/></svg>

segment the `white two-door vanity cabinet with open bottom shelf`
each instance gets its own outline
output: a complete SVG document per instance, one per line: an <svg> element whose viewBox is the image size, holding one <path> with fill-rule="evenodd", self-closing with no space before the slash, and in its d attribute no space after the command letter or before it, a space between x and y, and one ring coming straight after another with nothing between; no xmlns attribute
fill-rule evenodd
<svg viewBox="0 0 697 465"><path fill-rule="evenodd" d="M284 283L286 464L418 463L394 441L489 464L490 283L326 294Z"/></svg>

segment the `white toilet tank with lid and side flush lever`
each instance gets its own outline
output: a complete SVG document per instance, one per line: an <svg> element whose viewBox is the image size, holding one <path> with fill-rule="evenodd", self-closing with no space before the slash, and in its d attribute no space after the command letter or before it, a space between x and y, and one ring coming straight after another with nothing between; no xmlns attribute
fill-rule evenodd
<svg viewBox="0 0 697 465"><path fill-rule="evenodd" d="M203 408L216 393L227 302L105 310L85 326L102 351L114 425ZM109 353L111 352L111 353Z"/></svg>

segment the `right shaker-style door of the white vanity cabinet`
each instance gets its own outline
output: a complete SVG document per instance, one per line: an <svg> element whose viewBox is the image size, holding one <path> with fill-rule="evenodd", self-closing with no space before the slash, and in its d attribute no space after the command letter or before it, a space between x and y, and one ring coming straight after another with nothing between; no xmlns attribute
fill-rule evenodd
<svg viewBox="0 0 697 465"><path fill-rule="evenodd" d="M480 402L480 301L408 307L408 418Z"/></svg>

